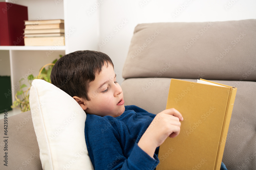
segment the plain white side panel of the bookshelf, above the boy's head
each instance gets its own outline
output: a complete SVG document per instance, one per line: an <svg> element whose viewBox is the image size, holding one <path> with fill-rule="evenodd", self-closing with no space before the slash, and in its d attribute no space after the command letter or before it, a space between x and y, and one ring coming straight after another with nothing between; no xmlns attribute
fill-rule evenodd
<svg viewBox="0 0 256 170"><path fill-rule="evenodd" d="M64 0L66 54L77 50L97 51L99 10L87 12L95 3L97 0Z"/></svg>

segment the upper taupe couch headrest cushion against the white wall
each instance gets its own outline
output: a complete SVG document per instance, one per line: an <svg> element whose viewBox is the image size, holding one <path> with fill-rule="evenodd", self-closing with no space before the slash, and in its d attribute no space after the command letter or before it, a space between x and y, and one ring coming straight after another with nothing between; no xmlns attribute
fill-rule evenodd
<svg viewBox="0 0 256 170"><path fill-rule="evenodd" d="M256 19L135 27L123 78L256 81Z"/></svg>

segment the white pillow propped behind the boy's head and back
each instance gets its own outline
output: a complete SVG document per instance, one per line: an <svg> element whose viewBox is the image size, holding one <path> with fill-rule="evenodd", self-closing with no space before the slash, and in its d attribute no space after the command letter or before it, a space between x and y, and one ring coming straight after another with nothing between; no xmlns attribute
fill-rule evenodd
<svg viewBox="0 0 256 170"><path fill-rule="evenodd" d="M67 93L35 79L29 93L44 170L93 169L84 137L86 113Z"/></svg>

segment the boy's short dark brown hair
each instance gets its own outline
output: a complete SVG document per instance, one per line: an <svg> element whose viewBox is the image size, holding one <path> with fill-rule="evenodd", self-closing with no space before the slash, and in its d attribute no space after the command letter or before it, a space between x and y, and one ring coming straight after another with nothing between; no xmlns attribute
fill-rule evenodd
<svg viewBox="0 0 256 170"><path fill-rule="evenodd" d="M83 50L66 54L53 66L51 83L71 97L78 96L89 101L89 83L94 81L95 73L100 74L104 62L114 67L110 57L99 51Z"/></svg>

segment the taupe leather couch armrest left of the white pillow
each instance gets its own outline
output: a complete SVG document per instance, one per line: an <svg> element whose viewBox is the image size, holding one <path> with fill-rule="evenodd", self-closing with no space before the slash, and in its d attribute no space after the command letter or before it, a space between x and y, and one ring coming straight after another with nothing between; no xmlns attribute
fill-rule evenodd
<svg viewBox="0 0 256 170"><path fill-rule="evenodd" d="M39 158L39 147L31 118L31 111L20 113L7 118L7 156L8 166L2 162L0 169L42 169ZM0 120L0 127L4 129L4 119ZM0 142L1 158L4 156L4 139L2 133Z"/></svg>

